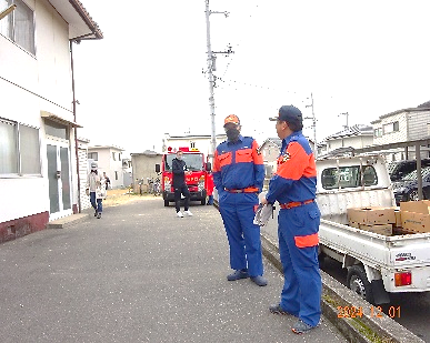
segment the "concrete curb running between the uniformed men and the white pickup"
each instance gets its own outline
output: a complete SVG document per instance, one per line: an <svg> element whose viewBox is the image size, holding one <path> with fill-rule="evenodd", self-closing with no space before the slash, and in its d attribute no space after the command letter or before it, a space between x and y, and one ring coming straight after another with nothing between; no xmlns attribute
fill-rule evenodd
<svg viewBox="0 0 430 343"><path fill-rule="evenodd" d="M282 273L278 245L261 233L264 256ZM351 292L340 282L321 271L322 314L344 335L349 342L424 343L420 337ZM347 317L348 309L362 309L362 316ZM377 315L378 314L378 315Z"/></svg>

